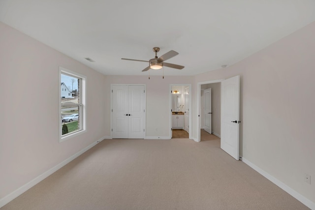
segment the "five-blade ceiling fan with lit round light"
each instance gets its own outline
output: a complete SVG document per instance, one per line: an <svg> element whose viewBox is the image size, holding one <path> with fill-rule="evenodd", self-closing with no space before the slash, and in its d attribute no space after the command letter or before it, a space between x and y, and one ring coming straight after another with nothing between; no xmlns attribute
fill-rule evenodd
<svg viewBox="0 0 315 210"><path fill-rule="evenodd" d="M175 52L174 50L169 51L168 53L165 53L164 55L160 56L158 58L158 51L159 47L154 47L153 51L156 53L156 56L154 59L150 60L134 60L134 59L122 59L122 60L133 60L133 61L141 61L141 62L149 62L149 66L143 69L142 71L148 71L150 68L152 69L161 69L163 66L171 67L171 68L177 68L177 69L183 69L185 66L177 65L173 63L166 63L165 60L168 60L170 58L173 58L174 56L177 56L179 53Z"/></svg>

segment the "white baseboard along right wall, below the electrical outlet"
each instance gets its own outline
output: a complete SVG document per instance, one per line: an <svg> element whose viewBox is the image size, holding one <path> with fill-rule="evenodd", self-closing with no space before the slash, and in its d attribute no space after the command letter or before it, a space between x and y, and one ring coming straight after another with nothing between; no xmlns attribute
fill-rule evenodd
<svg viewBox="0 0 315 210"><path fill-rule="evenodd" d="M257 171L259 174L261 174L262 176L264 176L265 178L267 178L268 180L270 180L271 182L273 182L274 184L279 186L285 192L289 193L291 196L296 198L302 204L304 204L305 206L307 206L311 210L315 210L315 203L313 201L305 198L303 195L301 195L300 193L298 193L297 191L295 191L291 187L287 186L282 181L280 181L280 180L276 179L275 177L271 176L270 174L268 174L267 172L265 172L264 170L262 170L261 168L259 168L258 166L256 166L252 162L250 162L249 160L247 160L246 158L242 157L242 161L244 163L246 163L247 165L249 165L252 169Z"/></svg>

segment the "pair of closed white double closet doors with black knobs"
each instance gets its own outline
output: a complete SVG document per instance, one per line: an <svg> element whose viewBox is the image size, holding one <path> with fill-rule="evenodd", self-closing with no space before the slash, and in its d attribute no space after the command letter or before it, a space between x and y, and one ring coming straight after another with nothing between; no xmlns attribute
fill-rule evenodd
<svg viewBox="0 0 315 210"><path fill-rule="evenodd" d="M112 86L112 138L144 139L144 86Z"/></svg>

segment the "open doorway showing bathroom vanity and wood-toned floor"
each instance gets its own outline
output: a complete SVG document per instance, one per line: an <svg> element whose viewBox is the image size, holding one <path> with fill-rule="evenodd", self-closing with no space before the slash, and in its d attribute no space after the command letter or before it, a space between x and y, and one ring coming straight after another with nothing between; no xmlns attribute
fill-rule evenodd
<svg viewBox="0 0 315 210"><path fill-rule="evenodd" d="M190 91L190 84L170 84L170 139L191 139Z"/></svg>

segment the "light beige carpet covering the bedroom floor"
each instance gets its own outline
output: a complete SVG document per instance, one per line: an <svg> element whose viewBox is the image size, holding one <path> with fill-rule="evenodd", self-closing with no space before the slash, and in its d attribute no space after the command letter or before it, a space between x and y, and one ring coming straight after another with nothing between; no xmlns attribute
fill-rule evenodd
<svg viewBox="0 0 315 210"><path fill-rule="evenodd" d="M220 141L104 140L1 210L304 210Z"/></svg>

